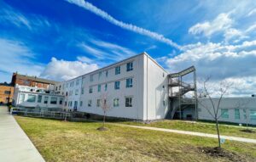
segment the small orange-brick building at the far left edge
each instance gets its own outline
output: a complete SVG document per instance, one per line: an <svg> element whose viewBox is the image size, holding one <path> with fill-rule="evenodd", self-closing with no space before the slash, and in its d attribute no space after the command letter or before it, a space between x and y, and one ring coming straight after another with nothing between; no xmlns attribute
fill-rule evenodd
<svg viewBox="0 0 256 162"><path fill-rule="evenodd" d="M0 104L7 104L12 102L15 87L3 83L0 84Z"/></svg>

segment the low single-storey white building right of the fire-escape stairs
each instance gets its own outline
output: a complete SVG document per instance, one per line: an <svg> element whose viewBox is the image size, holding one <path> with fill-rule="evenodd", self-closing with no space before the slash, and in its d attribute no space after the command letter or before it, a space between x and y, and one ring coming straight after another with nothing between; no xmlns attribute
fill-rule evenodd
<svg viewBox="0 0 256 162"><path fill-rule="evenodd" d="M217 109L218 98L212 98ZM199 98L198 118L213 120L214 115L211 100ZM256 125L256 98L223 98L218 110L219 121Z"/></svg>

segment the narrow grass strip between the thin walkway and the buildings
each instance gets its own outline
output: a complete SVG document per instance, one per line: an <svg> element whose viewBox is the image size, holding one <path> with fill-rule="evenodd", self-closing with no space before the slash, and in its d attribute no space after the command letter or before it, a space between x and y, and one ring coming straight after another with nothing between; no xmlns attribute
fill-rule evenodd
<svg viewBox="0 0 256 162"><path fill-rule="evenodd" d="M167 129L175 129L175 130L183 130L183 131L197 131L197 132L204 132L204 133L216 133L216 126L210 125L209 123L204 122L187 122L181 120L160 120L156 122L152 122L150 124L143 124L141 122L132 122L132 121L125 121L122 122L123 124L128 125L136 125L136 126L152 126L152 127L159 127L159 128L167 128ZM256 133L248 133L241 131L245 129L244 127L231 127L231 126L224 126L223 124L219 125L219 131L221 135L226 136L234 136L234 137L247 137L256 139ZM256 131L255 129L253 129Z"/></svg>

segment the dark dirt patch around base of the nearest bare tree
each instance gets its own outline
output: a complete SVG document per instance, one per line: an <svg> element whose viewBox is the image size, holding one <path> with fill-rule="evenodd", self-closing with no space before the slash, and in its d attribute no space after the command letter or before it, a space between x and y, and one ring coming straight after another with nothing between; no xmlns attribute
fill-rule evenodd
<svg viewBox="0 0 256 162"><path fill-rule="evenodd" d="M227 158L227 159L230 159L230 161L234 161L234 162L243 162L243 161L246 162L247 161L247 159L245 159L241 155L238 155L236 153L225 150L224 148L204 147L204 148L199 148L199 149L202 153L205 153L212 157Z"/></svg>

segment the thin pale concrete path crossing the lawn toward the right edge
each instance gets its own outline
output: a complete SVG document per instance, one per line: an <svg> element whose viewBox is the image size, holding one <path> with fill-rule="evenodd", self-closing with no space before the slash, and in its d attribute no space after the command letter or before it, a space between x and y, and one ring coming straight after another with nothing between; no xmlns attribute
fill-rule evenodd
<svg viewBox="0 0 256 162"><path fill-rule="evenodd" d="M166 131L166 132L185 134L185 135L191 135L191 136L198 136L198 137L218 138L218 136L214 135L214 134L207 134L207 133L201 133L201 132L195 132L195 131L179 131L179 130L171 130L171 129L165 129L165 128L149 127L149 126L131 126L131 125L125 125L125 124L113 124L113 125L128 126L128 127L139 128L139 129L144 129L144 130ZM256 139L251 139L251 138L230 137L230 136L220 136L220 137L224 138L226 140L231 140L231 141L256 143Z"/></svg>

